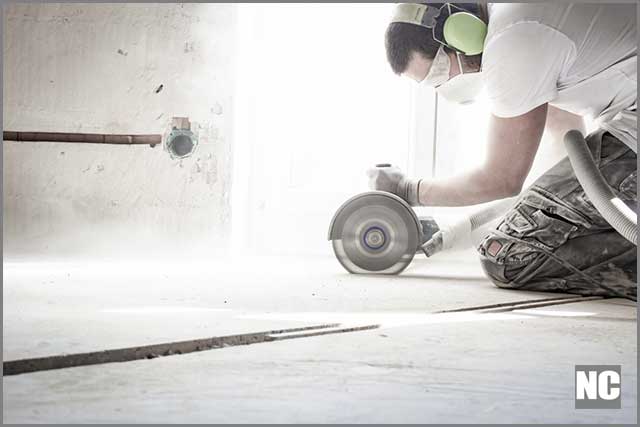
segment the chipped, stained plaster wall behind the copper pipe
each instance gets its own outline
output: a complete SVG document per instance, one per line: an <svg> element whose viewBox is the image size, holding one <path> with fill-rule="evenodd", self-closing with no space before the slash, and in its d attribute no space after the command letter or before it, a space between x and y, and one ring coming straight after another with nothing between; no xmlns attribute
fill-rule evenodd
<svg viewBox="0 0 640 427"><path fill-rule="evenodd" d="M4 6L4 129L164 133L200 144L3 142L8 257L106 257L224 248L229 229L235 6Z"/></svg>

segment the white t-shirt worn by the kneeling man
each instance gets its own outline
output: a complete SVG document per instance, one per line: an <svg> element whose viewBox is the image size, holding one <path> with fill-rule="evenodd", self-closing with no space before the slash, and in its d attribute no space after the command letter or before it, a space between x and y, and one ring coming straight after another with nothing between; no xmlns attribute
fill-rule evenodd
<svg viewBox="0 0 640 427"><path fill-rule="evenodd" d="M489 5L482 71L493 114L548 102L637 152L635 4Z"/></svg>

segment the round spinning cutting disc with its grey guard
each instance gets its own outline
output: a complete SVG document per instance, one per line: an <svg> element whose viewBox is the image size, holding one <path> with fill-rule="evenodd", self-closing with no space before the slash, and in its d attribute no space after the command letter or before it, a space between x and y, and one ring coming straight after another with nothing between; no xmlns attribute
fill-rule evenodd
<svg viewBox="0 0 640 427"><path fill-rule="evenodd" d="M332 221L333 250L350 273L398 274L421 242L420 223L399 197L370 192L347 201Z"/></svg>

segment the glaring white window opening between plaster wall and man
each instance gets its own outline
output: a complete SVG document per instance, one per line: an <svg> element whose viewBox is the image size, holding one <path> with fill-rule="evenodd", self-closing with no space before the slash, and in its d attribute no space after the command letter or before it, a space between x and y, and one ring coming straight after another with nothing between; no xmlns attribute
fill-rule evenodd
<svg viewBox="0 0 640 427"><path fill-rule="evenodd" d="M232 240L330 253L329 221L375 163L406 168L410 83L389 67L393 4L244 4L238 12Z"/></svg>

